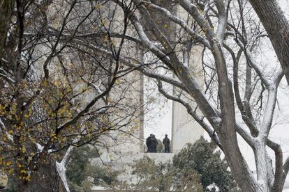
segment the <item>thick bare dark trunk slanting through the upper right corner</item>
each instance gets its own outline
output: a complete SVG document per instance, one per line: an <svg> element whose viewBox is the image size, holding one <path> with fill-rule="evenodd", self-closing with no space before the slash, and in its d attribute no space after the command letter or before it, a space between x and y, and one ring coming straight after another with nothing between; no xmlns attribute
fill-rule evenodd
<svg viewBox="0 0 289 192"><path fill-rule="evenodd" d="M276 0L249 0L262 22L289 83L289 23Z"/></svg>

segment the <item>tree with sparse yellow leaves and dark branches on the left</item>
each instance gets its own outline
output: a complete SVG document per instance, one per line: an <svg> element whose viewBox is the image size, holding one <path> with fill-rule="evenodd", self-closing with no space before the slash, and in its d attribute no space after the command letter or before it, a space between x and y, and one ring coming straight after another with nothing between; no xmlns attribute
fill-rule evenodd
<svg viewBox="0 0 289 192"><path fill-rule="evenodd" d="M73 147L105 146L99 138L135 127L140 103L131 93L138 90L129 87L139 77L124 78L131 72L121 67L124 38L114 42L108 26L115 13L98 6L76 0L11 5L8 33L1 33L0 168L17 191L69 191L65 171ZM126 35L126 24L119 32ZM84 39L113 56L84 47ZM61 150L66 153L56 162Z"/></svg>

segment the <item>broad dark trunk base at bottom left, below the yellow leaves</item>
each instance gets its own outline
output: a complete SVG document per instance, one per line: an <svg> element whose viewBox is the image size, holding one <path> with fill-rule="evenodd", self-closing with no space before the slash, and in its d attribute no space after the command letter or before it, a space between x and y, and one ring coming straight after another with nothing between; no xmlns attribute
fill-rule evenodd
<svg viewBox="0 0 289 192"><path fill-rule="evenodd" d="M17 185L17 191L22 192L66 192L63 182L57 173L56 161L50 159L48 163L40 164L35 175L27 184Z"/></svg>

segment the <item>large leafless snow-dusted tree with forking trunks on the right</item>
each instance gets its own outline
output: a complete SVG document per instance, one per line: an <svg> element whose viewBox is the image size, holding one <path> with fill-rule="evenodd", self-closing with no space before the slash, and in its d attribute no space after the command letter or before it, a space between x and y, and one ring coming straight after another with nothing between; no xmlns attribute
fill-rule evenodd
<svg viewBox="0 0 289 192"><path fill-rule="evenodd" d="M202 125L223 150L242 191L281 191L288 173L288 161L283 164L281 146L268 136L272 127L276 94L283 77L283 70L278 65L270 66L270 71L265 70L265 64L255 60L253 52L258 47L255 43L266 38L267 35L263 33L262 26L256 26L255 31L250 31L251 29L246 26L245 17L249 13L246 8L251 10L249 2L181 0L170 1L172 6L170 9L163 1L113 1L129 15L133 30L138 33L138 38L127 37L126 39L139 43L154 54L168 71L175 74L176 78L158 74L154 67L149 67L142 61L138 64L123 57L123 63L137 68L147 77L158 79L158 87L163 95L186 107L188 113ZM131 3L137 11L131 9ZM174 6L175 10L182 10L181 13L184 13L185 17L176 14ZM172 33L166 33L164 29L166 25L158 22L156 13L169 19L172 26L175 25L176 31L172 30L172 33L175 33L177 38L172 38L170 36ZM255 17L255 23L260 25L258 17L255 15L251 17L252 21ZM194 27L195 25L197 27ZM258 34L253 34L254 32ZM269 39L272 40L270 35ZM189 43L193 46L189 46ZM219 107L207 99L199 80L195 78L190 68L193 67L190 66L191 49L195 45L201 45L209 51L209 57L214 63L211 70L215 71L216 75L212 76L212 81L218 86L216 102ZM102 51L103 54L110 54L108 50L99 47L95 49ZM180 52L183 54L179 54ZM240 61L245 61L245 65L241 65ZM246 70L242 76L239 76L239 67ZM259 83L252 82L253 77L260 79ZM245 81L244 92L240 89L243 86L238 83L239 78ZM186 97L191 97L200 111L194 109L187 99L166 93L162 89L162 81L179 88ZM261 94L263 92L265 94ZM266 98L259 102L259 104L265 102L265 109L259 111L261 112L260 123L254 117L256 103L253 102L258 101L258 99L251 99L254 94L258 95L254 97ZM244 95L243 99L241 95ZM236 116L239 114L245 126L236 121ZM255 154L256 178L239 150L237 135L251 146ZM275 152L275 166L272 165L267 146Z"/></svg>

